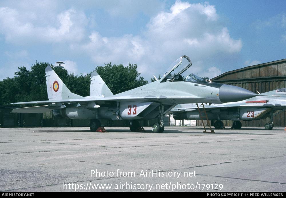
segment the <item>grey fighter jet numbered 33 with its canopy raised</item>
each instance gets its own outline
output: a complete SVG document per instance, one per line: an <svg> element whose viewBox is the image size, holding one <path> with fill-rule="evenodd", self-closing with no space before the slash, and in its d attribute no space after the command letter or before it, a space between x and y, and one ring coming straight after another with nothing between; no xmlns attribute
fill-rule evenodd
<svg viewBox="0 0 286 198"><path fill-rule="evenodd" d="M128 120L130 130L140 127L138 120L160 118L152 131L164 131L164 115L180 103L224 103L240 101L257 94L231 85L198 80L190 74L183 81L182 73L192 65L187 56L176 60L162 79L113 95L96 71L91 74L90 96L71 93L50 66L45 69L48 101L11 103L47 104L14 109L15 113L53 111L56 118L90 119L90 130L101 127L99 119ZM171 74L172 73L172 74Z"/></svg>

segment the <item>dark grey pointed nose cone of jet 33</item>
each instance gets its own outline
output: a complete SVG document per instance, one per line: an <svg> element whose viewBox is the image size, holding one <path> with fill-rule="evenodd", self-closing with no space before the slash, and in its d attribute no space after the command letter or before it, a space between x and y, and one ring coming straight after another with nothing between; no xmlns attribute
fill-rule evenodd
<svg viewBox="0 0 286 198"><path fill-rule="evenodd" d="M246 100L256 95L257 94L251 91L248 91L247 89L243 89L241 87L237 87L233 85L223 84L219 88L219 99L223 103Z"/></svg>

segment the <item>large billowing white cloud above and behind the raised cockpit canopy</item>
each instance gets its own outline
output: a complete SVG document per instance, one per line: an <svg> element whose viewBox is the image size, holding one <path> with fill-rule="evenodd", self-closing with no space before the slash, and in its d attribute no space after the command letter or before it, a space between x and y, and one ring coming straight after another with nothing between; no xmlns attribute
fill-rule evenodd
<svg viewBox="0 0 286 198"><path fill-rule="evenodd" d="M218 19L213 5L176 1L169 11L152 17L142 35L104 37L94 31L81 49L90 54L96 64L137 63L142 74L152 77L163 73L168 64L182 55L194 61L213 57L225 61L239 53L241 40L231 38L227 27ZM212 61L204 60L204 63L204 68L213 67Z"/></svg>

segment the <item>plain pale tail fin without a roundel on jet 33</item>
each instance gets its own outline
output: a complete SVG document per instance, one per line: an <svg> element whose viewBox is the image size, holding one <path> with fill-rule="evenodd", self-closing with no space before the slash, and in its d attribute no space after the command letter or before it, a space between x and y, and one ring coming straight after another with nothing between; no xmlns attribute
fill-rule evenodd
<svg viewBox="0 0 286 198"><path fill-rule="evenodd" d="M104 97L113 96L113 93L107 87L100 75L94 70L90 75L90 96L104 95Z"/></svg>

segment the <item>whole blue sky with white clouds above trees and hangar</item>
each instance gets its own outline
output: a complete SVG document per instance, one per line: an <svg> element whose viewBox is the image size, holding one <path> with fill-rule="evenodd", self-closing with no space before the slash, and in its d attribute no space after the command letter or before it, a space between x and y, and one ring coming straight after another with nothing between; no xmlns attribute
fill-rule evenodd
<svg viewBox="0 0 286 198"><path fill-rule="evenodd" d="M286 1L1 0L0 54L0 80L63 61L75 75L137 64L150 81L182 55L212 78L286 59Z"/></svg>

